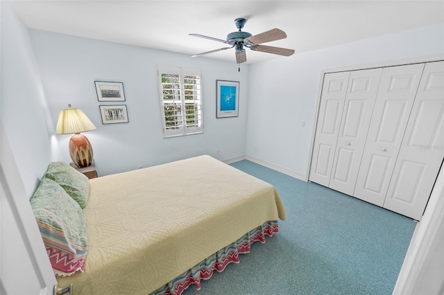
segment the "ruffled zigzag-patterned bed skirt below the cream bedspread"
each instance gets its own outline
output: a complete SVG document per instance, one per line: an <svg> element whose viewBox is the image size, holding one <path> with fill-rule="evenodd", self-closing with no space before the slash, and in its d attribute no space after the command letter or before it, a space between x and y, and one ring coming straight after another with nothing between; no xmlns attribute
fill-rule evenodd
<svg viewBox="0 0 444 295"><path fill-rule="evenodd" d="M214 270L219 272L223 271L230 262L239 263L239 254L250 253L253 242L260 241L264 243L265 235L271 237L274 233L278 232L278 220L265 222L262 226L257 226L257 228L249 231L232 244L207 257L193 268L185 271L185 273L151 294L180 295L192 284L195 285L196 289L200 289L200 280L211 278Z"/></svg>

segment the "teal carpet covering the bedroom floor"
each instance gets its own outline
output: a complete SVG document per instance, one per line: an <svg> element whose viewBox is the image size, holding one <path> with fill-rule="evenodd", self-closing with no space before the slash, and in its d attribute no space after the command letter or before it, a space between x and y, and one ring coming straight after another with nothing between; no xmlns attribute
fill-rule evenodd
<svg viewBox="0 0 444 295"><path fill-rule="evenodd" d="M280 233L255 242L220 274L183 294L391 294L416 223L250 161L231 166L277 188Z"/></svg>

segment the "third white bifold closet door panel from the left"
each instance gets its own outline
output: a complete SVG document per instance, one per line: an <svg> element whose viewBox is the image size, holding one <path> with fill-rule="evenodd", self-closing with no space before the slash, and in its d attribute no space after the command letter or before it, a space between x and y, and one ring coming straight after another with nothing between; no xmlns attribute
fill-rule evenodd
<svg viewBox="0 0 444 295"><path fill-rule="evenodd" d="M424 64L411 64L382 71L355 197L377 206L384 204L423 69Z"/></svg>

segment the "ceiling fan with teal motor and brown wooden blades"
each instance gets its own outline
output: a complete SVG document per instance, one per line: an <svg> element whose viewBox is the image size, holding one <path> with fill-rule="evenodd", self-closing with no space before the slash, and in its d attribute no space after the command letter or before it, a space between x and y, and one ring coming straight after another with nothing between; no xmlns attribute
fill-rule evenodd
<svg viewBox="0 0 444 295"><path fill-rule="evenodd" d="M192 55L192 56L196 57L196 56L205 55L208 53L214 53L214 52L218 52L218 51L227 50L227 49L234 47L234 49L236 51L236 62L238 64L241 64L242 62L247 61L245 48L250 48L253 51L273 53L273 54L284 55L284 56L290 56L294 53L293 49L262 45L262 43L287 38L287 34L283 30L280 30L278 28L273 28L271 30L265 31L264 33L260 33L260 34L253 36L248 32L241 31L241 29L244 28L246 21L247 20L244 18L234 19L234 24L236 24L236 27L239 28L239 30L237 32L233 32L233 33L228 34L226 40L217 39L217 38L208 37L208 36L199 35L199 34L189 34L190 36L210 39L210 40L214 40L217 42L223 42L225 44L230 45L230 47L223 47L223 48L215 49L212 51L198 53L198 54Z"/></svg>

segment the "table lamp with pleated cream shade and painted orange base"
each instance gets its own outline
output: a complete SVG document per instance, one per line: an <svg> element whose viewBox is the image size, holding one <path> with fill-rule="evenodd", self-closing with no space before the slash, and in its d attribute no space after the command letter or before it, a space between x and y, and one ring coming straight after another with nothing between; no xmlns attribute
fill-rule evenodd
<svg viewBox="0 0 444 295"><path fill-rule="evenodd" d="M58 115L56 126L57 134L73 134L69 140L69 155L77 167L90 166L94 159L92 145L88 138L80 132L87 132L96 129L96 126L89 120L81 109L62 109Z"/></svg>

